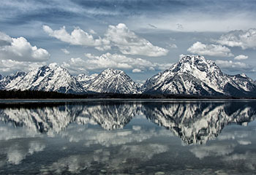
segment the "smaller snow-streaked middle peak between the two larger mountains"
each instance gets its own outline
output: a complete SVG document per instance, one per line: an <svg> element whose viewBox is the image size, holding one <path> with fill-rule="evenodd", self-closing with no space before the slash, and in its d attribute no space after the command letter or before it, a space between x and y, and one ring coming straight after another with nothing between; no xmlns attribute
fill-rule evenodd
<svg viewBox="0 0 256 175"><path fill-rule="evenodd" d="M87 90L97 93L140 93L138 85L124 71L115 69L102 71Z"/></svg>

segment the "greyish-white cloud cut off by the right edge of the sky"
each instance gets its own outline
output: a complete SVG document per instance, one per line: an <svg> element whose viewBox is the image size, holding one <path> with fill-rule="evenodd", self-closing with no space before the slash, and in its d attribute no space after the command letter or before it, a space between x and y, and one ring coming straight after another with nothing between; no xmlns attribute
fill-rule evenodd
<svg viewBox="0 0 256 175"><path fill-rule="evenodd" d="M241 47L243 50L248 48L256 49L256 28L251 28L247 31L230 31L220 36L217 42L229 47Z"/></svg>

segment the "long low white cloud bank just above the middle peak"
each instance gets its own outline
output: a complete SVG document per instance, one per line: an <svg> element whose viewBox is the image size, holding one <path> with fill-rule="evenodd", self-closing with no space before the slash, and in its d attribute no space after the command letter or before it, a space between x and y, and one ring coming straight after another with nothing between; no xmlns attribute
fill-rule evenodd
<svg viewBox="0 0 256 175"><path fill-rule="evenodd" d="M138 71L147 70L165 70L168 69L170 63L151 63L142 58L129 58L126 55L118 55L105 53L100 56L95 56L90 53L85 54L87 59L83 58L71 58L69 61L62 64L63 67L69 69L74 74L78 74L78 71L92 71L92 70L102 70L102 69L126 69L133 70L133 72L138 73Z"/></svg>

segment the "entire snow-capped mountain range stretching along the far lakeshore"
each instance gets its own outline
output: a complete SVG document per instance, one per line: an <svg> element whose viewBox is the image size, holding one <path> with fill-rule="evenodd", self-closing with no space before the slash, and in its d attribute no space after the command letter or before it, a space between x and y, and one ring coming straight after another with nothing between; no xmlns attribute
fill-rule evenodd
<svg viewBox="0 0 256 175"><path fill-rule="evenodd" d="M225 74L214 61L203 56L182 55L178 63L147 79L143 85L121 70L72 76L67 69L52 63L27 73L18 71L12 76L0 76L0 90L256 97L256 82L246 74Z"/></svg>

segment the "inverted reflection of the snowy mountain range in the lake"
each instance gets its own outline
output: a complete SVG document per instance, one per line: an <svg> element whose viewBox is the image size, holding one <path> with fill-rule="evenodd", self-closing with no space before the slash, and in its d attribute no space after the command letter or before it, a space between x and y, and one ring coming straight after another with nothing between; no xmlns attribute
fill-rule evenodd
<svg viewBox="0 0 256 175"><path fill-rule="evenodd" d="M71 123L100 125L111 131L124 128L139 114L180 136L186 144L205 144L216 138L225 125L246 125L255 120L256 110L255 103L238 102L65 105L1 109L0 120L12 123L15 127L26 126L40 133L59 133ZM105 133L108 135L108 132Z"/></svg>

